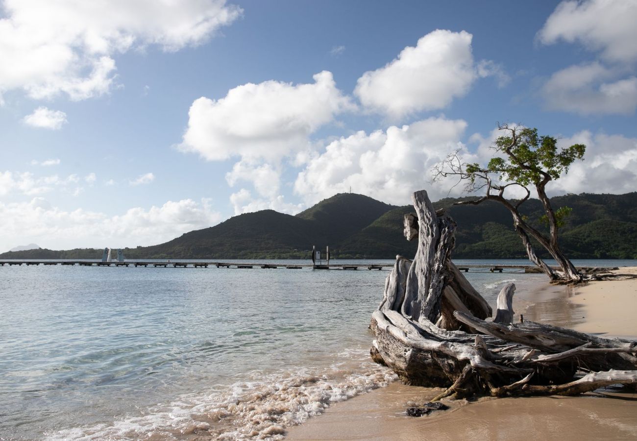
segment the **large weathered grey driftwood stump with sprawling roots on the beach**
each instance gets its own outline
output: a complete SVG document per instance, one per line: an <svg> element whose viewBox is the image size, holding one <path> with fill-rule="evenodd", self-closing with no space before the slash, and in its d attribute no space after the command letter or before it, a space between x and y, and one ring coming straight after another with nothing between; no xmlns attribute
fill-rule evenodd
<svg viewBox="0 0 637 441"><path fill-rule="evenodd" d="M405 215L404 235L418 240L418 250L413 260L396 257L372 314L377 363L405 384L447 387L436 400L580 394L637 383L637 342L513 323L513 284L498 296L496 319L485 321L491 308L450 259L454 220L436 212L425 191L412 201L416 213Z"/></svg>

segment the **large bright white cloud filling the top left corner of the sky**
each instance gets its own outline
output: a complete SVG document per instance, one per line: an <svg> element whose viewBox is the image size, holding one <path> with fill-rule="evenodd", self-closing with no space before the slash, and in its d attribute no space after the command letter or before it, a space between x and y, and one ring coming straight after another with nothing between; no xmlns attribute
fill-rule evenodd
<svg viewBox="0 0 637 441"><path fill-rule="evenodd" d="M241 15L225 0L5 0L0 19L0 95L65 93L85 99L108 92L117 54L158 45L198 45Z"/></svg>

